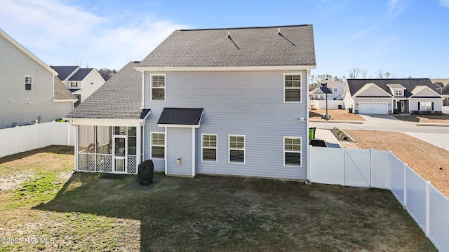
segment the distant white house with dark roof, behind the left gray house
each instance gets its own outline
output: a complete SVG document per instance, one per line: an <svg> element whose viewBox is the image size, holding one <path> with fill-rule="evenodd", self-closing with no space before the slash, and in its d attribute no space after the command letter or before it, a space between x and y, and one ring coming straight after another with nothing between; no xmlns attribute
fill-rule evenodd
<svg viewBox="0 0 449 252"><path fill-rule="evenodd" d="M81 68L80 66L50 66L59 73L62 83L74 94L78 106L87 97L91 96L98 87L105 83L97 69Z"/></svg>

